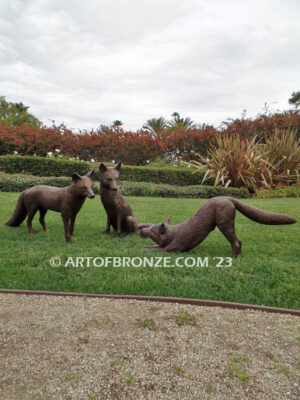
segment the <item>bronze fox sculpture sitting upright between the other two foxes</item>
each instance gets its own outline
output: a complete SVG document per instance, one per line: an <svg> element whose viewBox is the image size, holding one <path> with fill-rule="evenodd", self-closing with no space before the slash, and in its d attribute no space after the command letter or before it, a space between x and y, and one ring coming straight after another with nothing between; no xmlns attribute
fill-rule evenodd
<svg viewBox="0 0 300 400"><path fill-rule="evenodd" d="M107 215L105 233L110 232L110 226L117 235L121 233L135 233L138 225L131 207L118 188L121 163L115 167L106 167L100 164L100 197Z"/></svg>

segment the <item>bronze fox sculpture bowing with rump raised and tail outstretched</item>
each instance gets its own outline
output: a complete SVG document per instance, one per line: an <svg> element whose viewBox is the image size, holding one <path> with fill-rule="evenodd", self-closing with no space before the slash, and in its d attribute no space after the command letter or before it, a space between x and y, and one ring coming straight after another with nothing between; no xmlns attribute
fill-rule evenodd
<svg viewBox="0 0 300 400"><path fill-rule="evenodd" d="M297 222L284 214L262 211L232 197L214 197L208 200L189 220L178 225L139 224L141 235L152 239L158 246L155 250L189 251L201 243L217 226L232 247L232 257L241 253L242 242L235 235L234 218L236 210L246 217L265 225L285 225Z"/></svg>

